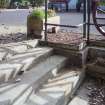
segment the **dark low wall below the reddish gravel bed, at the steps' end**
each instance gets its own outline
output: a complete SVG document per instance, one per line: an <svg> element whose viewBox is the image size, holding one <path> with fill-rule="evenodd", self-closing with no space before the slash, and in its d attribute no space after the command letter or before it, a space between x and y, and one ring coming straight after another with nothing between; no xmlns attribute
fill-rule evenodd
<svg viewBox="0 0 105 105"><path fill-rule="evenodd" d="M39 45L53 47L55 54L69 57L68 65L83 67L86 64L88 48L85 48L85 45L80 48L79 44L69 45L45 41L39 41Z"/></svg>

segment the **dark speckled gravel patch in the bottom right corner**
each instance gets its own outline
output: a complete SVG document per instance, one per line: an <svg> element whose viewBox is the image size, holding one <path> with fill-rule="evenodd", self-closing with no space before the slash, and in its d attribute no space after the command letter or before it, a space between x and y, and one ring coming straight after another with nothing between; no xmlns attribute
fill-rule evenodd
<svg viewBox="0 0 105 105"><path fill-rule="evenodd" d="M97 80L97 79L96 79ZM95 80L95 83L88 86L91 90L89 96L89 105L105 105L105 81Z"/></svg>

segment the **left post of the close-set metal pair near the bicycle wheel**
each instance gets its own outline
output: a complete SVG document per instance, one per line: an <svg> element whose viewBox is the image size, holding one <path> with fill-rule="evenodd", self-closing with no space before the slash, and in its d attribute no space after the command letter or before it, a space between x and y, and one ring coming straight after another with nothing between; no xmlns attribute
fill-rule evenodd
<svg viewBox="0 0 105 105"><path fill-rule="evenodd" d="M86 38L86 0L83 0L83 38Z"/></svg>

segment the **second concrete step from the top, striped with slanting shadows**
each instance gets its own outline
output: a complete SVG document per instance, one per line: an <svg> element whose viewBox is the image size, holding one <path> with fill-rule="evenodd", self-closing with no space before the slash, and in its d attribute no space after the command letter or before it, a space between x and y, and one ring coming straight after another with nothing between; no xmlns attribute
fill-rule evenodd
<svg viewBox="0 0 105 105"><path fill-rule="evenodd" d="M34 48L31 51L11 56L8 60L1 62L0 83L14 79L20 71L30 70L33 65L49 57L52 50L52 48ZM29 54L30 56L28 56Z"/></svg>

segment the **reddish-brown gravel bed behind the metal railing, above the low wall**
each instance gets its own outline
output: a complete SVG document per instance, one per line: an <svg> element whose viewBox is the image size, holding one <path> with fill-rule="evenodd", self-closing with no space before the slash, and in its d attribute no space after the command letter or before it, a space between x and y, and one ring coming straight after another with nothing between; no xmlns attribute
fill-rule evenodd
<svg viewBox="0 0 105 105"><path fill-rule="evenodd" d="M86 40L83 38L81 33L69 32L69 31L59 31L58 33L48 33L48 41L53 43L63 43L63 44L75 44ZM105 40L102 35L90 35L90 40L100 41Z"/></svg>

